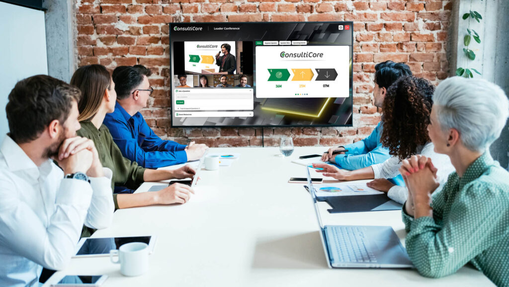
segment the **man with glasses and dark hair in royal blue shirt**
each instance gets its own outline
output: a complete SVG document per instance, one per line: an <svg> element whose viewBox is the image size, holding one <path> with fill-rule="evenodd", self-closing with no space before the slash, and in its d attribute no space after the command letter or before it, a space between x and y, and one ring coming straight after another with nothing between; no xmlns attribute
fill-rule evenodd
<svg viewBox="0 0 509 287"><path fill-rule="evenodd" d="M113 72L117 103L115 111L104 118L113 140L127 159L146 168L200 159L208 148L205 144L191 142L186 146L162 140L139 113L147 107L153 91L148 80L150 74L151 71L142 65L121 66Z"/></svg>

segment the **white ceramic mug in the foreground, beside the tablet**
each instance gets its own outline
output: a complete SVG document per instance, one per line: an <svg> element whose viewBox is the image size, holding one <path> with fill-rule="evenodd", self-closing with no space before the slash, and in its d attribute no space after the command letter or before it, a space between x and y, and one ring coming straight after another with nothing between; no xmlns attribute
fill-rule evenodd
<svg viewBox="0 0 509 287"><path fill-rule="evenodd" d="M114 260L113 256L118 255ZM143 242L131 242L120 246L119 250L110 250L109 259L120 264L120 273L124 276L139 276L149 269L149 246Z"/></svg>

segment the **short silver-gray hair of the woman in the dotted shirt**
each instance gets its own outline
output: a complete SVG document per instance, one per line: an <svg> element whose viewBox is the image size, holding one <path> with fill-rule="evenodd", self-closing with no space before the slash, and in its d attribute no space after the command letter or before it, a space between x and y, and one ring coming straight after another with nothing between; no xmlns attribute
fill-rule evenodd
<svg viewBox="0 0 509 287"><path fill-rule="evenodd" d="M450 77L433 94L443 131L455 128L470 150L483 152L499 136L509 115L502 89L488 81Z"/></svg>

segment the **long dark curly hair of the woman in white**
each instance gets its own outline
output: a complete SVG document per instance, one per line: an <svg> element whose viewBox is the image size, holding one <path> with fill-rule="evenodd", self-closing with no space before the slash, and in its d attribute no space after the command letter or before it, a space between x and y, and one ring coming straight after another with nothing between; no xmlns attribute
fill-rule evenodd
<svg viewBox="0 0 509 287"><path fill-rule="evenodd" d="M389 154L407 159L430 141L428 124L435 87L425 79L408 76L394 82L383 101L380 142Z"/></svg>

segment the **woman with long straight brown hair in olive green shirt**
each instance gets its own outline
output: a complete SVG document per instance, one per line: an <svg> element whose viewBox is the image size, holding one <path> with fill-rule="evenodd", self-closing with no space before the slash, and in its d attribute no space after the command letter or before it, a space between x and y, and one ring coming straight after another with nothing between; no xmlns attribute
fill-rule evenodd
<svg viewBox="0 0 509 287"><path fill-rule="evenodd" d="M79 136L89 138L99 153L104 167L111 169L111 189L125 186L136 189L144 181L161 181L171 178L193 177L195 171L184 166L176 170L145 169L136 162L124 158L113 141L108 128L103 124L106 113L115 109L117 94L115 83L106 68L102 65L88 65L77 69L71 79L71 85L81 90L78 102L81 129ZM174 184L158 192L139 194L114 194L116 208L146 206L152 204L185 203L193 190L182 184Z"/></svg>

